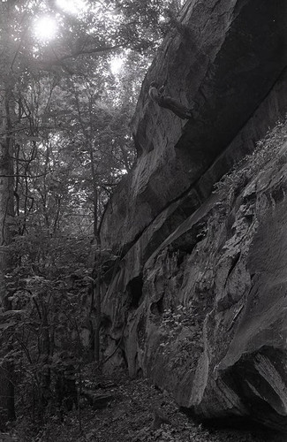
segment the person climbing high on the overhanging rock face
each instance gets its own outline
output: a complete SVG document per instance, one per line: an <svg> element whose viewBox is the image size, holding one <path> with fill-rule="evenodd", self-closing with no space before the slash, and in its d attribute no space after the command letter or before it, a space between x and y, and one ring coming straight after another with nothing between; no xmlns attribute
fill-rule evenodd
<svg viewBox="0 0 287 442"><path fill-rule="evenodd" d="M148 90L148 95L151 97L153 102L161 106L162 108L169 109L171 112L177 115L177 117L182 119L189 119L193 117L193 110L187 108L182 103L179 103L175 98L169 95L163 95L164 86L158 88L156 81L150 83Z"/></svg>

